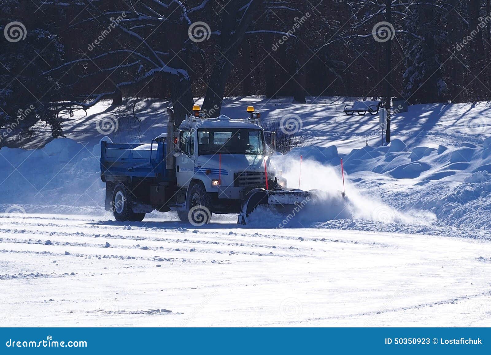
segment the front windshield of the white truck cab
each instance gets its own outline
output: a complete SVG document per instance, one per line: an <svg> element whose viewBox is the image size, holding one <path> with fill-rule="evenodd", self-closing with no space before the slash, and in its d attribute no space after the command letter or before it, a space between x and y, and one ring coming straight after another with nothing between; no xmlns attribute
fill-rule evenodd
<svg viewBox="0 0 491 355"><path fill-rule="evenodd" d="M257 154L264 152L263 131L248 128L198 129L198 154Z"/></svg>

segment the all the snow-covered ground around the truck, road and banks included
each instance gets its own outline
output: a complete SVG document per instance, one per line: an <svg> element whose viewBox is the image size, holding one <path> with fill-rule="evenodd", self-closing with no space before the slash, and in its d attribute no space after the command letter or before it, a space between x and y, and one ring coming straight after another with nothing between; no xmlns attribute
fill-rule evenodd
<svg viewBox="0 0 491 355"><path fill-rule="evenodd" d="M67 139L1 148L1 325L490 326L490 106L411 106L381 147L378 117L345 116L349 102L225 100L230 117L295 113L309 137L274 159L298 181L302 155L301 188L327 196L285 228L268 211L196 232L171 213L113 222L94 148L107 102L66 117ZM165 105L109 136L149 141Z"/></svg>

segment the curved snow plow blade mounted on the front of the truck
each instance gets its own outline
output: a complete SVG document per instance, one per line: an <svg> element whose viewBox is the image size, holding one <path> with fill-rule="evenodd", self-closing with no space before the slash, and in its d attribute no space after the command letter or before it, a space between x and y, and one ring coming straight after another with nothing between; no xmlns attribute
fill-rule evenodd
<svg viewBox="0 0 491 355"><path fill-rule="evenodd" d="M242 205L237 223L246 225L249 214L252 213L252 211L259 205L276 205L279 207L285 207L288 210L293 206L303 207L307 203L315 203L320 193L322 193L320 190L304 191L300 189L253 189L246 195L246 199Z"/></svg>

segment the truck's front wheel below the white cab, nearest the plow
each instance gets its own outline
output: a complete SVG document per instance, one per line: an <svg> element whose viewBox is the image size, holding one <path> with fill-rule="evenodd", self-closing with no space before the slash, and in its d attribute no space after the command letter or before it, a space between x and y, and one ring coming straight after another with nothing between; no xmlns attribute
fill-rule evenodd
<svg viewBox="0 0 491 355"><path fill-rule="evenodd" d="M212 218L211 197L203 185L194 183L189 187L186 197L186 210L177 211L179 219L191 223L195 227L201 227L210 223Z"/></svg>

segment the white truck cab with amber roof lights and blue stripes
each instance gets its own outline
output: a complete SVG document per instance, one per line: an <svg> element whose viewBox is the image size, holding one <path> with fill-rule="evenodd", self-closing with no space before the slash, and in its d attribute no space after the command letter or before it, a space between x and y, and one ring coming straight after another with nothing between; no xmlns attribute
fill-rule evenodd
<svg viewBox="0 0 491 355"><path fill-rule="evenodd" d="M199 106L194 106L193 115L174 132L177 186L189 195L190 186L200 184L210 196L210 209L216 213L240 211L247 192L253 188L280 186L269 158L273 149L266 144L259 123L260 114L251 106L247 111L250 117L244 119L224 115L207 118ZM274 142L274 134L268 133ZM186 206L175 209L189 212L189 196L185 201Z"/></svg>

